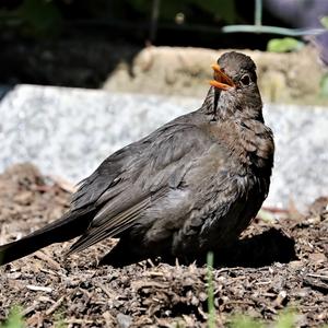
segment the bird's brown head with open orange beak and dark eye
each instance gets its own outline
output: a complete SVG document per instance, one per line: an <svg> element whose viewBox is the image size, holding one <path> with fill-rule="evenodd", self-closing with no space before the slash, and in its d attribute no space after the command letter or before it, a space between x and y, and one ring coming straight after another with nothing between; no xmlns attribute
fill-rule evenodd
<svg viewBox="0 0 328 328"><path fill-rule="evenodd" d="M261 96L257 86L256 66L250 57L236 52L223 54L212 65L210 81L212 109L222 118L229 116L261 117Z"/></svg>

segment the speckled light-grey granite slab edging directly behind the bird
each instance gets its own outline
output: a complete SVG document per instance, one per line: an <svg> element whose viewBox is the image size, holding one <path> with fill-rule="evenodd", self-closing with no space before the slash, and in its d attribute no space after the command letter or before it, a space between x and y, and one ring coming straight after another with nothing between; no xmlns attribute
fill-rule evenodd
<svg viewBox="0 0 328 328"><path fill-rule="evenodd" d="M33 162L78 183L102 160L164 122L198 108L199 98L16 85L0 102L0 171ZM305 208L328 195L328 110L265 105L276 134L276 167L267 206Z"/></svg>

